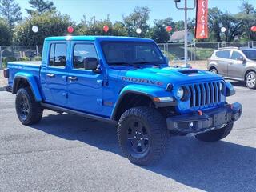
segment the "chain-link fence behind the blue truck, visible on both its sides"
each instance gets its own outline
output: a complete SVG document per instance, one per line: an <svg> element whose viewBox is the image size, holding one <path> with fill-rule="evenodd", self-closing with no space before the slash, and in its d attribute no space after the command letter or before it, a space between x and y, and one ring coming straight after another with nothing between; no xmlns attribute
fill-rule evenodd
<svg viewBox="0 0 256 192"><path fill-rule="evenodd" d="M170 59L170 65L183 64L184 43L160 43L162 52ZM256 42L192 42L188 46L188 60L198 68L205 68L214 50L227 46L256 46ZM39 61L42 46L0 46L0 69L11 61Z"/></svg>

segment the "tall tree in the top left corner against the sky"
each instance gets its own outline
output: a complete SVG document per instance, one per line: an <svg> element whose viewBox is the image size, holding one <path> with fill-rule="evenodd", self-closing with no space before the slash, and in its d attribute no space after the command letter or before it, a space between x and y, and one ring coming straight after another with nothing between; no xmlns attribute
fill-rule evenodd
<svg viewBox="0 0 256 192"><path fill-rule="evenodd" d="M16 22L22 20L21 8L14 0L0 1L0 15L6 18L10 30L14 28Z"/></svg>

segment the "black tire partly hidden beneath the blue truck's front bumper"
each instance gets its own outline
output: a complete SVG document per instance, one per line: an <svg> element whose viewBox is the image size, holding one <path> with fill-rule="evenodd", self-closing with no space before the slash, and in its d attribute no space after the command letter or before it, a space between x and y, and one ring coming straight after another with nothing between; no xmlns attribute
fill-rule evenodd
<svg viewBox="0 0 256 192"><path fill-rule="evenodd" d="M233 122L227 124L222 129L211 130L203 134L197 134L195 138L198 138L198 140L202 142L218 142L219 140L226 138L226 136L230 134L232 129Z"/></svg>

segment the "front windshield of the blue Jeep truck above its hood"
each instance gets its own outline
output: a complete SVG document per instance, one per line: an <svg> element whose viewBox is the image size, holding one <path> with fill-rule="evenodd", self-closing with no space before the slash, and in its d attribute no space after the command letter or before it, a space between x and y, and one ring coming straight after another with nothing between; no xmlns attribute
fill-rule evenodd
<svg viewBox="0 0 256 192"><path fill-rule="evenodd" d="M102 42L102 50L110 66L166 64L153 42Z"/></svg>

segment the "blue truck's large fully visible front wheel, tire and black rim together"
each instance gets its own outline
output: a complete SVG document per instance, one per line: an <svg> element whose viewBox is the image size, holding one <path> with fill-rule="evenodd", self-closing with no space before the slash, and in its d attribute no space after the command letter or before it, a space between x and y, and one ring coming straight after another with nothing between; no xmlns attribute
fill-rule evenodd
<svg viewBox="0 0 256 192"><path fill-rule="evenodd" d="M149 165L166 151L166 122L155 109L141 106L126 110L118 122L118 142L130 162Z"/></svg>

